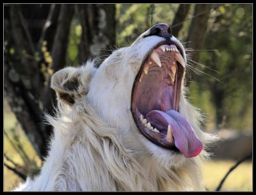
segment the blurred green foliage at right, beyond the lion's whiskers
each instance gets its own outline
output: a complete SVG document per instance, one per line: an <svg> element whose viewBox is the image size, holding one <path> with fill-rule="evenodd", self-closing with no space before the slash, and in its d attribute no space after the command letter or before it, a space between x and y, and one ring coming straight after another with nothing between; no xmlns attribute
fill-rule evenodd
<svg viewBox="0 0 256 195"><path fill-rule="evenodd" d="M212 49L218 51L207 51ZM218 71L201 68L220 82L207 75L193 78L198 91L210 91L203 100L209 105L202 98L194 103L216 114L217 128L226 118L225 128L252 130L252 5L223 4L211 13L200 63ZM216 111L209 109L212 105Z"/></svg>

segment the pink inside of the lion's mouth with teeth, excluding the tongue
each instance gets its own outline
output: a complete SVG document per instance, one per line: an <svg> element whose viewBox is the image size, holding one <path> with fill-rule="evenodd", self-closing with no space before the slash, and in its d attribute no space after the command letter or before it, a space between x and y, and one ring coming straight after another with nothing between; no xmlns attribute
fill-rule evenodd
<svg viewBox="0 0 256 195"><path fill-rule="evenodd" d="M144 117L152 110L166 112L173 109L179 111L180 86L186 64L180 51L183 51L182 48L173 42L159 42L152 47L141 65L132 90L132 113L138 128L150 141L164 148L175 149L172 132L168 128L166 129L167 134L159 133L159 130L151 127L151 124L148 124L148 121ZM165 58L169 62L163 62ZM154 71L161 72L161 74L157 74L157 78L154 81L157 83L156 86L152 83L152 79L150 78L150 73L152 72L150 71L153 74ZM148 80L145 80L147 78ZM145 95L148 93L148 90L143 91L144 86L147 88L147 83L151 85L150 88L152 88L152 91L156 91L155 95L152 94L153 92L150 93L154 98L151 98L150 95ZM159 88L163 88L163 90L158 90L157 85L159 85ZM166 95L164 97L163 95L159 95L161 93L172 95ZM154 100L156 102L148 104L147 101L140 100L140 98L145 98L147 101ZM158 100L164 103L159 104L157 103Z"/></svg>

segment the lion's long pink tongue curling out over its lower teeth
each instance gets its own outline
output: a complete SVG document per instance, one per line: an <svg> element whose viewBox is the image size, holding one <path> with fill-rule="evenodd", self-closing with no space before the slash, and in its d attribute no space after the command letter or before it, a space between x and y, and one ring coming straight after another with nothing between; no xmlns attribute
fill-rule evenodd
<svg viewBox="0 0 256 195"><path fill-rule="evenodd" d="M196 136L189 121L180 113L169 110L166 113L162 111L151 111L145 117L154 127L163 132L171 126L174 137L174 144L186 158L196 157L203 149L202 142Z"/></svg>

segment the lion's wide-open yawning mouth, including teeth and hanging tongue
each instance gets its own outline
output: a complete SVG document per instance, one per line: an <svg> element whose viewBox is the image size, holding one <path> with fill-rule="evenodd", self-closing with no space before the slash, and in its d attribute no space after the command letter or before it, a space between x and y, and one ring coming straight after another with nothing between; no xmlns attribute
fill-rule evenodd
<svg viewBox="0 0 256 195"><path fill-rule="evenodd" d="M184 68L176 45L156 47L134 81L131 111L138 129L149 141L185 157L195 157L203 144L179 113Z"/></svg>

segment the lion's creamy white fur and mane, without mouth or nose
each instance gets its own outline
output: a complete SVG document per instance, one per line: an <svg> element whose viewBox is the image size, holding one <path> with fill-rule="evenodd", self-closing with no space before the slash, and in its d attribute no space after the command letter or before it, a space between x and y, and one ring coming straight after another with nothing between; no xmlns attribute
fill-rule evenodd
<svg viewBox="0 0 256 195"><path fill-rule="evenodd" d="M186 159L151 143L142 136L131 114L132 85L148 51L164 40L143 33L131 47L113 52L100 67L93 61L54 74L58 95L54 127L40 175L15 191L204 191L202 160L215 136L202 132L200 114L185 98L182 86L180 113L204 143L198 157ZM172 38L182 47L182 44ZM185 55L185 52L183 55ZM78 81L76 90L65 87ZM61 93L73 95L68 104Z"/></svg>

